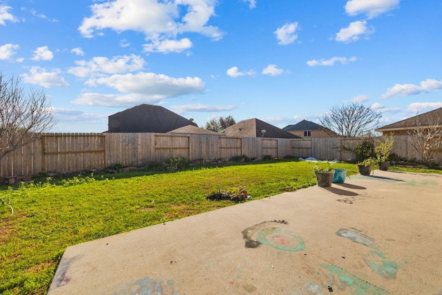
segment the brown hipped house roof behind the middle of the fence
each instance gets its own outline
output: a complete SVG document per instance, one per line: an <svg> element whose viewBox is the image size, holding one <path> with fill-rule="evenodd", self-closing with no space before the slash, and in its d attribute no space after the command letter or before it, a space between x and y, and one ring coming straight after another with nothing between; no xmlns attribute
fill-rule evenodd
<svg viewBox="0 0 442 295"><path fill-rule="evenodd" d="M232 137L299 138L294 134L258 119L238 122L224 129L222 133Z"/></svg>

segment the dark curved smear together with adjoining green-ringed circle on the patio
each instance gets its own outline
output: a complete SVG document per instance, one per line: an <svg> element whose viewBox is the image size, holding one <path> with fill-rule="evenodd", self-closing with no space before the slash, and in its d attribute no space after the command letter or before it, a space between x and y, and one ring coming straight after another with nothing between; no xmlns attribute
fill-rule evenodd
<svg viewBox="0 0 442 295"><path fill-rule="evenodd" d="M287 225L285 220L261 222L242 231L246 248L257 248L267 245L284 251L299 251L305 249L302 238L295 236L291 231L285 231L275 225Z"/></svg>

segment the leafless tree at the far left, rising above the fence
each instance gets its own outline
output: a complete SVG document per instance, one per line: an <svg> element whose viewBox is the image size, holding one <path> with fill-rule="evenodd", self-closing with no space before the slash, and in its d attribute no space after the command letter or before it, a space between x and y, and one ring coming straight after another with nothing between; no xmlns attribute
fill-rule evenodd
<svg viewBox="0 0 442 295"><path fill-rule="evenodd" d="M25 93L18 78L0 73L0 160L57 124L43 90Z"/></svg>

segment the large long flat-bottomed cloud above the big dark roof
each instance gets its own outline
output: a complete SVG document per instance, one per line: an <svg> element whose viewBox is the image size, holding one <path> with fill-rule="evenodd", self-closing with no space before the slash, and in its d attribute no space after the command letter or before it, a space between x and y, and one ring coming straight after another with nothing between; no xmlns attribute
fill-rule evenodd
<svg viewBox="0 0 442 295"><path fill-rule="evenodd" d="M106 85L122 93L137 93L149 99L179 97L192 93L201 93L204 82L198 77L173 78L155 73L137 73L112 75L86 82L89 86Z"/></svg>

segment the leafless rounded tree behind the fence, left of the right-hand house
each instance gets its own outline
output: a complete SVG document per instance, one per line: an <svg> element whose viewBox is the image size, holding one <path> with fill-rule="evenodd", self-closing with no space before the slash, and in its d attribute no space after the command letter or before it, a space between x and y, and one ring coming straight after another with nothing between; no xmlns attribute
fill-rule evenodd
<svg viewBox="0 0 442 295"><path fill-rule="evenodd" d="M375 129L381 117L381 113L355 102L334 106L319 122L333 136L360 137Z"/></svg>

